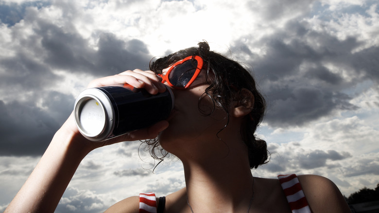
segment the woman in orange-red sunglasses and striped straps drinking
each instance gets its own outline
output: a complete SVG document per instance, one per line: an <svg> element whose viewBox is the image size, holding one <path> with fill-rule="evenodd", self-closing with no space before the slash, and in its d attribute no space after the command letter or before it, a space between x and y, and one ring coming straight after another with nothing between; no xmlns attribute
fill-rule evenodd
<svg viewBox="0 0 379 213"><path fill-rule="evenodd" d="M98 143L79 133L71 114L5 212L53 212L91 150L144 139L152 139L147 142L156 158L169 152L183 162L186 188L165 199L153 194L129 197L107 212L155 212L156 206L165 213L350 212L327 178L306 175L279 181L252 176L250 169L268 158L266 142L254 135L265 102L240 64L201 42L157 59L150 70L125 71L96 79L88 87L127 83L156 94L169 85L175 107L167 121ZM293 187L295 195L289 192Z"/></svg>

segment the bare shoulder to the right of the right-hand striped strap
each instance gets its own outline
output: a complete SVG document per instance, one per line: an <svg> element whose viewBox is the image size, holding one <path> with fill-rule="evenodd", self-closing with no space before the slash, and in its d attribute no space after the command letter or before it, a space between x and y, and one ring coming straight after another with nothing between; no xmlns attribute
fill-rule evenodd
<svg viewBox="0 0 379 213"><path fill-rule="evenodd" d="M328 178L317 175L298 176L313 213L350 213L338 187Z"/></svg>

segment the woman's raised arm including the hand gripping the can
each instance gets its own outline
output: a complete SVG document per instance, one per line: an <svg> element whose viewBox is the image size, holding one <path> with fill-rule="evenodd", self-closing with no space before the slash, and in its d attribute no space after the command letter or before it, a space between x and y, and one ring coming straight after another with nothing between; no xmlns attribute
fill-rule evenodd
<svg viewBox="0 0 379 213"><path fill-rule="evenodd" d="M160 83L159 77L154 73L140 70L125 71L119 75L97 79L92 81L88 87L124 83L136 88L145 88L152 94L163 92L165 89ZM91 142L79 133L71 113L65 124L55 133L41 160L5 213L54 212L80 162L90 151L116 142L155 138L167 126L167 121L161 121L118 138L103 142Z"/></svg>

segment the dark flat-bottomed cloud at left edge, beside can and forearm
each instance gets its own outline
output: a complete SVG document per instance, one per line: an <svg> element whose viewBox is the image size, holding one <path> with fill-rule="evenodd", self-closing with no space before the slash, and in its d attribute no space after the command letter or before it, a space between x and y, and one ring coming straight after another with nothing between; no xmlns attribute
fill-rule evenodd
<svg viewBox="0 0 379 213"><path fill-rule="evenodd" d="M36 94L44 100L41 109L34 97L4 104L0 100L0 155L43 154L52 136L72 111L74 98L55 91Z"/></svg>

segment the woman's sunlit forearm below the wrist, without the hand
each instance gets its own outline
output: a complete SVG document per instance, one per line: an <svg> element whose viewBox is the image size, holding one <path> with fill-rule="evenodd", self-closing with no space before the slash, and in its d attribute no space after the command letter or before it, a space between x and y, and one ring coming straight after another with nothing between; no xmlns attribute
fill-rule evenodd
<svg viewBox="0 0 379 213"><path fill-rule="evenodd" d="M54 212L79 163L90 151L81 136L59 130L5 213Z"/></svg>

